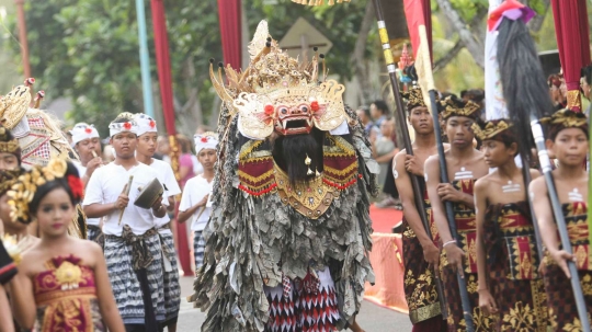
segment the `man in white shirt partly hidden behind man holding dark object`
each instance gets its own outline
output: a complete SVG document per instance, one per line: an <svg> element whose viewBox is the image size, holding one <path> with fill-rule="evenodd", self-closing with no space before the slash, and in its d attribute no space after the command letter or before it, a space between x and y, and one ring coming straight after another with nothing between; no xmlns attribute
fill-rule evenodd
<svg viewBox="0 0 592 332"><path fill-rule="evenodd" d="M152 158L158 146L157 123L146 114L135 114L134 121L138 125L138 146L136 159L149 165L157 172L158 180L164 185L164 198L169 202L169 208L174 208L174 196L181 194L179 183L174 178L171 165L162 160ZM162 327L168 331L177 331L177 319L181 309L181 286L179 284L179 267L174 239L171 231L171 218L166 215L156 220L156 228L160 236L162 247L162 270L164 274L164 310L166 320Z"/></svg>

